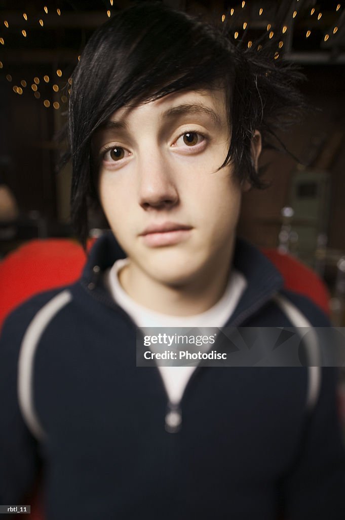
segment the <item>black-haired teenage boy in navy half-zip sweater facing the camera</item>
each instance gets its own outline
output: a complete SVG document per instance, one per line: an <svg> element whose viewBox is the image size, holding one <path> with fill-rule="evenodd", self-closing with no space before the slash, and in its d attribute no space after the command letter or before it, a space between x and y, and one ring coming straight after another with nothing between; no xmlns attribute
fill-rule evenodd
<svg viewBox="0 0 345 520"><path fill-rule="evenodd" d="M7 320L2 503L43 466L49 519L344 518L329 369L135 367L137 326L328 326L236 240L292 79L160 4L91 38L70 100L73 218L85 241L99 200L112 234L77 283Z"/></svg>

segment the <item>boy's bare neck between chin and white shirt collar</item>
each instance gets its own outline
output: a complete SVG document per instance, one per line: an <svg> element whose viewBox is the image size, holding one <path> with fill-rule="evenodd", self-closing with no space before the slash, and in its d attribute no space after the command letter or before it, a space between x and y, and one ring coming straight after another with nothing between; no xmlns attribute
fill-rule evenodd
<svg viewBox="0 0 345 520"><path fill-rule="evenodd" d="M227 262L212 262L193 279L182 284L164 284L147 276L130 262L120 271L122 288L140 305L170 316L194 316L209 310L223 296L230 275L231 256Z"/></svg>

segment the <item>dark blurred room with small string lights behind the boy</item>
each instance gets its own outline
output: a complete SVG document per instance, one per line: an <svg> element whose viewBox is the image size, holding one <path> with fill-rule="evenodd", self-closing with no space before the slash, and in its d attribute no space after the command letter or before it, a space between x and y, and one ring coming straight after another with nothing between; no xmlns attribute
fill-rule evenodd
<svg viewBox="0 0 345 520"><path fill-rule="evenodd" d="M263 153L270 187L245 194L239 233L316 270L328 286L333 321L344 326L345 1L163 3L227 24L236 44L273 44L272 60L295 62L306 75L301 89L314 110L281 136L293 156ZM92 32L130 4L0 1L2 257L33 238L74 238L71 167L57 170L70 76ZM91 221L93 229L104 226L96 214Z"/></svg>

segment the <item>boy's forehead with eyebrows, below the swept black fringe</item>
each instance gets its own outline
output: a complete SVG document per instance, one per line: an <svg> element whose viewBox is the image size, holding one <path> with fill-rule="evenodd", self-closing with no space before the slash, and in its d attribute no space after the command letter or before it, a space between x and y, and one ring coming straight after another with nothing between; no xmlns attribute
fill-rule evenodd
<svg viewBox="0 0 345 520"><path fill-rule="evenodd" d="M126 125L136 117L174 119L190 115L208 118L217 125L227 120L226 96L223 88L183 90L168 94L160 99L125 106L114 112L108 121Z"/></svg>

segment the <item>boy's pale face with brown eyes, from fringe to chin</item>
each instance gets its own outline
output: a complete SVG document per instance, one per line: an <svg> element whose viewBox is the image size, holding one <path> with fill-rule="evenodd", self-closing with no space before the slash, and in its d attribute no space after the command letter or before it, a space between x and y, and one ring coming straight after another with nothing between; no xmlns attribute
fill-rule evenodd
<svg viewBox="0 0 345 520"><path fill-rule="evenodd" d="M121 108L94 137L103 210L146 281L202 283L229 266L241 188L232 166L217 171L228 147L222 90Z"/></svg>

